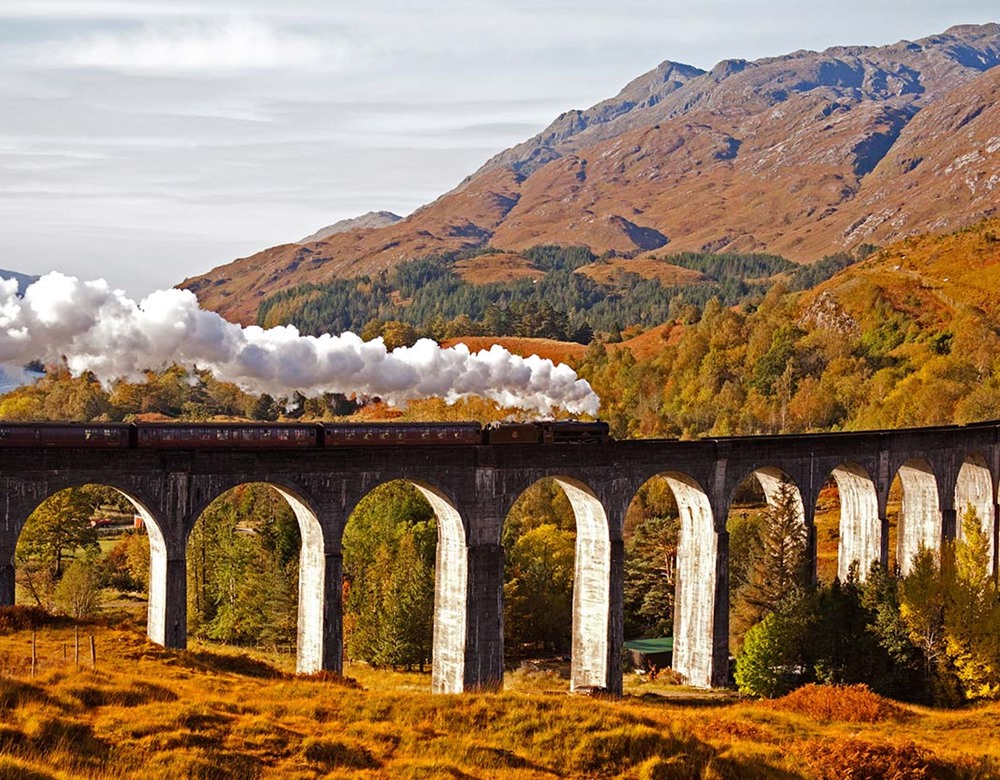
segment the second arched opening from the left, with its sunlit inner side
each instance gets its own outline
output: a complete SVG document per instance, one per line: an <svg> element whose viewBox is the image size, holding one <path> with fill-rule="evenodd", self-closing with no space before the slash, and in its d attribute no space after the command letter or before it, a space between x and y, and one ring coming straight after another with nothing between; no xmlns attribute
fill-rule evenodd
<svg viewBox="0 0 1000 780"><path fill-rule="evenodd" d="M323 668L326 557L303 498L285 486L238 485L201 513L187 550L192 635L294 652L299 673Z"/></svg>

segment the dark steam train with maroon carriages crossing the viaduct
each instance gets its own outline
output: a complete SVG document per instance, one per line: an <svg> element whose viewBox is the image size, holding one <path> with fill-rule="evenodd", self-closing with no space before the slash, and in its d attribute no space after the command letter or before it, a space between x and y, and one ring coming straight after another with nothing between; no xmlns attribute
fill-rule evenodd
<svg viewBox="0 0 1000 780"><path fill-rule="evenodd" d="M603 422L531 423L0 423L0 448L289 449L442 444L587 444Z"/></svg>

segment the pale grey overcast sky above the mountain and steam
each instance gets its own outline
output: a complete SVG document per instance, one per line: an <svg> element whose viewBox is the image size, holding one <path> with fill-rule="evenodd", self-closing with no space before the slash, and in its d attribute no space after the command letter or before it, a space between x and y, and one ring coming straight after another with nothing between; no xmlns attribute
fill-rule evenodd
<svg viewBox="0 0 1000 780"><path fill-rule="evenodd" d="M996 0L0 0L0 268L141 297L406 215L663 60L990 21Z"/></svg>

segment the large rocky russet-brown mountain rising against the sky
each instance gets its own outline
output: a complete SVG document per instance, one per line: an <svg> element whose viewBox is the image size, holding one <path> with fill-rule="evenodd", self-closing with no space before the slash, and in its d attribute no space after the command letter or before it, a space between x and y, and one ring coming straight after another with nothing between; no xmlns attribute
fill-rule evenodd
<svg viewBox="0 0 1000 780"><path fill-rule="evenodd" d="M710 71L665 62L404 220L273 247L181 286L248 323L287 287L484 246L810 263L958 227L996 212L998 64L997 24Z"/></svg>

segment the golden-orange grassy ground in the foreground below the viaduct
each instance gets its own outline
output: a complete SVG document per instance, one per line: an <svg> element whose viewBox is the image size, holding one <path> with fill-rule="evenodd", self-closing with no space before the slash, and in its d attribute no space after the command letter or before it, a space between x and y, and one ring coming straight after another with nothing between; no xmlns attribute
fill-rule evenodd
<svg viewBox="0 0 1000 780"><path fill-rule="evenodd" d="M104 625L81 632L96 638L92 671L63 660L72 627L36 630L34 679L30 629L0 636L3 778L1000 776L1000 705L883 700L899 717L844 722L860 692L765 705L630 676L610 700L567 695L549 666L511 673L504 693L432 696L426 674L352 666L352 686L296 676L288 656L165 650Z"/></svg>

